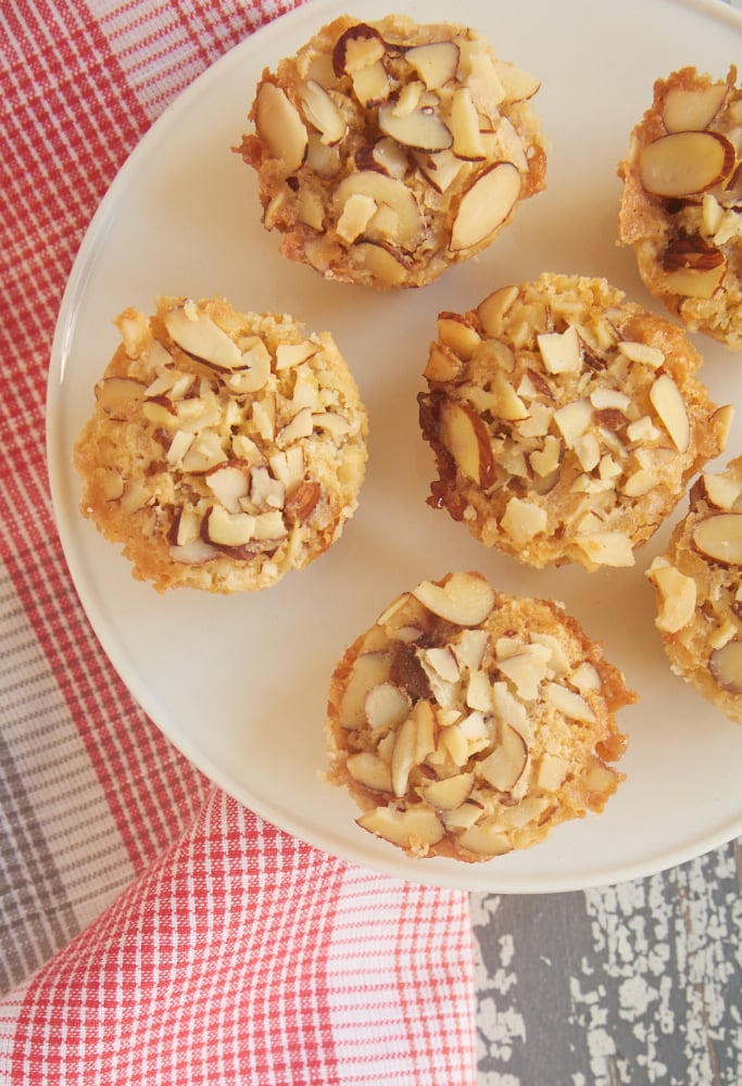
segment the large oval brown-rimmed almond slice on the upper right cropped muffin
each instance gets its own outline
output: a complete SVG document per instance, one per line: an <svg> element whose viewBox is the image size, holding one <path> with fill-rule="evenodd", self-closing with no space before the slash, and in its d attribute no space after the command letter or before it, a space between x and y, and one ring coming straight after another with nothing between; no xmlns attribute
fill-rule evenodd
<svg viewBox="0 0 742 1086"><path fill-rule="evenodd" d="M642 148L639 173L654 195L689 197L724 180L734 160L733 146L719 132L671 132Z"/></svg>

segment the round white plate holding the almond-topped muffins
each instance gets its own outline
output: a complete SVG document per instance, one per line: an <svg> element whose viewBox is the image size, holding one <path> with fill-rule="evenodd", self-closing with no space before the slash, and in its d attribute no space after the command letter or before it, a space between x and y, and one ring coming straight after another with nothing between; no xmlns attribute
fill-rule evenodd
<svg viewBox="0 0 742 1086"><path fill-rule="evenodd" d="M420 22L455 18L501 56L538 72L553 142L548 190L523 205L490 251L418 291L382 294L324 282L277 254L260 224L239 142L264 65L345 11L377 2L314 0L248 38L201 76L138 146L103 200L74 266L51 359L48 451L60 533L90 621L134 696L172 742L228 793L330 853L426 883L543 893L644 875L742 833L742 728L671 675L643 569L532 572L490 553L425 502L431 458L417 426L427 344L439 310L466 310L541 270L603 275L651 303L615 245L616 165L655 77L695 64L717 77L739 60L742 16L680 0L400 0ZM116 344L113 317L150 312L160 293L221 293L240 308L293 313L330 329L370 414L370 463L355 518L307 570L260 594L161 597L77 512L71 450L92 384ZM739 357L710 342L703 375L734 399ZM739 425L730 454L740 450ZM725 458L726 462L726 458ZM348 796L320 779L328 678L345 646L403 589L479 568L501 589L565 601L602 639L641 703L625 710L628 780L601 818L557 829L536 849L489 863L412 861L354 823Z"/></svg>

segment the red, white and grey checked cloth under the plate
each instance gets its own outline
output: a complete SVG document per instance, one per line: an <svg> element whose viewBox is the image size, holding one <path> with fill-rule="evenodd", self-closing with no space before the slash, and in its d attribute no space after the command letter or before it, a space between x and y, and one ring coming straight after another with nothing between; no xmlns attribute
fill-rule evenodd
<svg viewBox="0 0 742 1086"><path fill-rule="evenodd" d="M213 788L71 585L45 464L65 279L164 106L299 0L0 8L0 1081L471 1084L465 894L353 868Z"/></svg>

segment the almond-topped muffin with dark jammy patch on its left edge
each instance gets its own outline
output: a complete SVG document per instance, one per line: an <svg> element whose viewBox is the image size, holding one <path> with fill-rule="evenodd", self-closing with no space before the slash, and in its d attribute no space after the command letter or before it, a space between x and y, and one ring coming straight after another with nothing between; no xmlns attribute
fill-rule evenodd
<svg viewBox="0 0 742 1086"><path fill-rule="evenodd" d="M543 274L440 314L419 395L430 505L536 567L633 565L724 447L701 362L602 279Z"/></svg>

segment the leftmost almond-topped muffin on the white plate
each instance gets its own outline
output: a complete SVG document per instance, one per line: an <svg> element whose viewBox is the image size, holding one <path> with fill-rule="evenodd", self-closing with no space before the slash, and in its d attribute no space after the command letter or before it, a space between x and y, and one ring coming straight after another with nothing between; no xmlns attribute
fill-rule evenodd
<svg viewBox="0 0 742 1086"><path fill-rule="evenodd" d="M75 445L80 509L163 592L261 590L339 536L366 413L331 337L223 300L126 310Z"/></svg>

